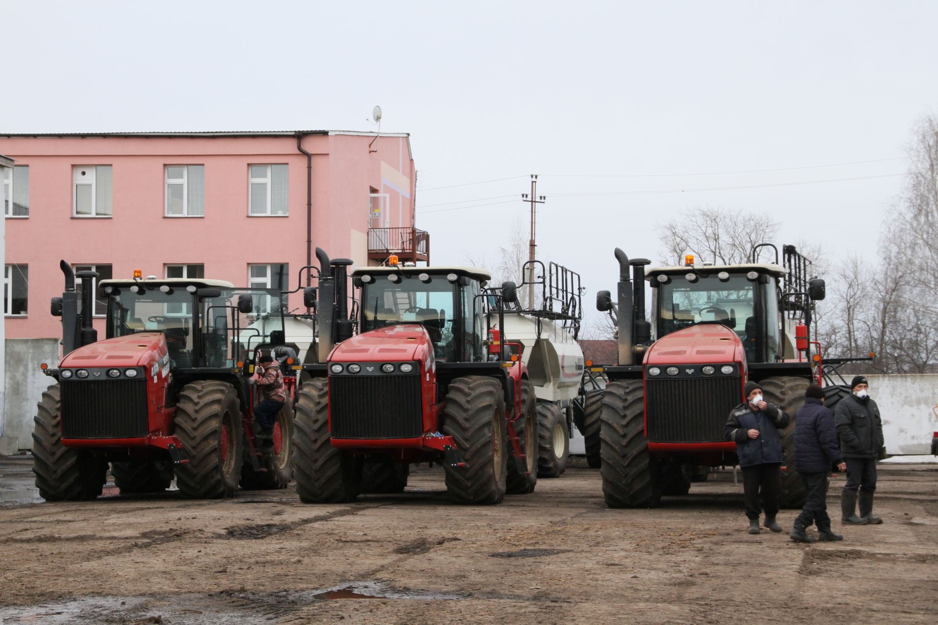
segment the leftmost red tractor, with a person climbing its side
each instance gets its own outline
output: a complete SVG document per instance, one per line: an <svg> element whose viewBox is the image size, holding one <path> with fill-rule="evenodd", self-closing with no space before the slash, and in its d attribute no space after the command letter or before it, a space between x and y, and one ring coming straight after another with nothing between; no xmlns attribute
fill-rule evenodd
<svg viewBox="0 0 938 625"><path fill-rule="evenodd" d="M52 313L62 318L63 358L45 373L33 433L39 495L95 499L111 464L122 493L162 491L173 478L186 498L245 488L284 488L292 468L288 401L261 447L247 377L262 350L274 353L294 394L283 344L279 290L235 289L219 280L102 280L107 337L92 326L98 274L61 262L66 287Z"/></svg>

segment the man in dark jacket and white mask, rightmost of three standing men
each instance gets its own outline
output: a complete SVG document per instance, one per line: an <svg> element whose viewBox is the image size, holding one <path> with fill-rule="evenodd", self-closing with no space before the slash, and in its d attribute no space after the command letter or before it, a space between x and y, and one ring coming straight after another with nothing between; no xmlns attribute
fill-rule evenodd
<svg viewBox="0 0 938 625"><path fill-rule="evenodd" d="M873 516L873 492L876 490L876 456L884 445L883 421L879 406L868 394L863 376L850 384L853 393L840 400L834 410L834 423L840 436L840 452L847 462L847 484L840 498L841 520L853 525L877 525ZM859 488L860 515L856 515L856 490Z"/></svg>

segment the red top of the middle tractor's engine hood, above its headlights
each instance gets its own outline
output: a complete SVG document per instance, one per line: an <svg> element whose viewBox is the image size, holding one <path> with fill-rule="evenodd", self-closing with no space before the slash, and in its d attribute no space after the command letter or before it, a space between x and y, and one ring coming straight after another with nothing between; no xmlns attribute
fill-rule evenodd
<svg viewBox="0 0 938 625"><path fill-rule="evenodd" d="M384 363L432 358L430 335L418 323L378 328L342 341L329 354L329 362Z"/></svg>

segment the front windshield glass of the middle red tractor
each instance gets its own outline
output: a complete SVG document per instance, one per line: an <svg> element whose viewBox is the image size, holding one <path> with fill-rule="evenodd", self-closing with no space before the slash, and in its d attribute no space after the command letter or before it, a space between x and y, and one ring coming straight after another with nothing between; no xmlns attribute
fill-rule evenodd
<svg viewBox="0 0 938 625"><path fill-rule="evenodd" d="M394 277L397 282L388 278ZM431 275L427 282L416 275L375 275L363 285L362 332L397 323L419 323L433 341L436 358L457 360L454 313L460 310L459 287L445 275Z"/></svg>

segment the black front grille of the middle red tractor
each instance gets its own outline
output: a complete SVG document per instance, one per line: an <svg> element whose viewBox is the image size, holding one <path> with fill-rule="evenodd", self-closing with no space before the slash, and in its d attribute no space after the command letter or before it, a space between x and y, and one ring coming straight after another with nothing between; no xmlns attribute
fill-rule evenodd
<svg viewBox="0 0 938 625"><path fill-rule="evenodd" d="M329 376L333 439L410 439L423 436L420 377Z"/></svg>

